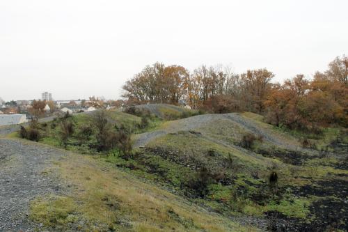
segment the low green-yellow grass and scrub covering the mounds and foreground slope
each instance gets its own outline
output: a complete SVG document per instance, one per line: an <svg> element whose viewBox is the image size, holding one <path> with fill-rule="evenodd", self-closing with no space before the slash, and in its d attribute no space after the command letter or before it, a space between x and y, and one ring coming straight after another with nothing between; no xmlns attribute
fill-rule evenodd
<svg viewBox="0 0 348 232"><path fill-rule="evenodd" d="M104 124L98 116L106 119ZM65 142L64 121L73 127ZM41 142L85 155L71 155L59 164L64 178L81 194L35 199L31 218L47 228L72 231L88 231L84 224L97 231L168 231L171 226L178 231L243 231L247 228L238 225L245 220L261 230L276 231L280 221L289 231L344 229L348 182L343 151L348 142L345 129L323 129L322 134L310 137L312 143L320 145L308 147L303 137L309 134L280 130L263 121L262 116L251 113L203 114L167 121L142 109L133 114L102 111L65 116L38 124ZM127 134L132 149L122 150L120 142L101 147L98 138L104 130L102 125L108 133L116 134L115 141L120 134ZM158 132L159 136L153 136ZM147 144L134 146L137 140L149 136ZM111 183L123 178L129 180L127 184L115 183L111 187ZM156 191L171 192L171 197L189 204L185 205L187 210L203 207L200 210L225 224L221 228L204 227L215 224L198 225L201 219L178 211L180 207L174 208L172 199L168 207L157 208L146 206L147 201L133 190L122 192L136 200L134 205L120 196L119 187L137 189L135 181ZM336 188L342 192L336 192ZM138 215L137 210L141 210L134 211L132 207L140 207L144 213ZM154 207L158 214L150 217ZM158 215L166 218L159 222ZM234 222L230 227L228 220Z"/></svg>

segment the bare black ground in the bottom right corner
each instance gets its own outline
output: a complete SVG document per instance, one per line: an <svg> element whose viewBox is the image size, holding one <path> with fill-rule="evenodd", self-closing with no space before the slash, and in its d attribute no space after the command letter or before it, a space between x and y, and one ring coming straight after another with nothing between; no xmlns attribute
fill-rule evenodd
<svg viewBox="0 0 348 232"><path fill-rule="evenodd" d="M292 190L296 196L317 196L309 209L313 222L286 217L280 212L267 212L271 231L330 231L347 230L348 224L348 181L338 178L321 180Z"/></svg>

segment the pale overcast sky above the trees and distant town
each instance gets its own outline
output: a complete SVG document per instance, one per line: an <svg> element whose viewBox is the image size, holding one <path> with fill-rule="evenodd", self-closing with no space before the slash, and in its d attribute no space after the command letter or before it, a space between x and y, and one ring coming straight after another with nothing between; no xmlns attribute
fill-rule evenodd
<svg viewBox="0 0 348 232"><path fill-rule="evenodd" d="M310 77L348 54L347 9L347 0L0 0L0 97L116 99L156 61Z"/></svg>

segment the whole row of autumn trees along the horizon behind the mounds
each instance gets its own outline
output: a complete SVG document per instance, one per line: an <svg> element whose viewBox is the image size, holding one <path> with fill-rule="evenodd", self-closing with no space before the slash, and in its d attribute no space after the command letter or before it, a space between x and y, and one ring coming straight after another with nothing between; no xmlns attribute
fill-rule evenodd
<svg viewBox="0 0 348 232"><path fill-rule="evenodd" d="M214 113L251 111L274 125L315 130L329 123L347 125L348 58L336 57L312 78L296 75L283 84L271 82L264 69L242 74L223 66L201 65L192 72L180 65L146 66L123 86L129 105L181 102Z"/></svg>

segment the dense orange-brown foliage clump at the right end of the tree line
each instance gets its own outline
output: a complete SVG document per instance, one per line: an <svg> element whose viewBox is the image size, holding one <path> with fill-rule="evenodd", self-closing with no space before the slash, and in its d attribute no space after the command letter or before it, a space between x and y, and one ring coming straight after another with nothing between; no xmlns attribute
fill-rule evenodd
<svg viewBox="0 0 348 232"><path fill-rule="evenodd" d="M317 132L329 124L347 126L348 86L345 56L329 64L329 70L316 72L312 80L303 75L274 85L264 101L269 123L291 129Z"/></svg>

